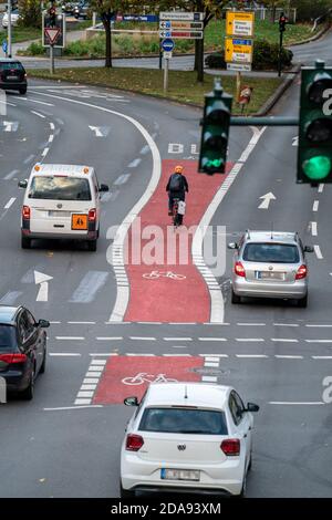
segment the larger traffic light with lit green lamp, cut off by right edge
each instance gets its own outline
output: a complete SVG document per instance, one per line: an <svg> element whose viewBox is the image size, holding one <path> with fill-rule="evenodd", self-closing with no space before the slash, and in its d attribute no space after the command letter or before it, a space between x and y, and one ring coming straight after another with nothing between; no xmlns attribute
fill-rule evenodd
<svg viewBox="0 0 332 520"><path fill-rule="evenodd" d="M301 71L299 184L332 183L332 67L318 60Z"/></svg>

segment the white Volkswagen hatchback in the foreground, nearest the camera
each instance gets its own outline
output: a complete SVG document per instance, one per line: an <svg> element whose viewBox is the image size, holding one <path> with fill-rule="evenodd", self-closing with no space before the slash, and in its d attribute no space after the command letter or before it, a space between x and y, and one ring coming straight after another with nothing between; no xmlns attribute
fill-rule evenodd
<svg viewBox="0 0 332 520"><path fill-rule="evenodd" d="M122 498L136 491L245 496L251 467L253 403L229 386L151 384L121 451Z"/></svg>

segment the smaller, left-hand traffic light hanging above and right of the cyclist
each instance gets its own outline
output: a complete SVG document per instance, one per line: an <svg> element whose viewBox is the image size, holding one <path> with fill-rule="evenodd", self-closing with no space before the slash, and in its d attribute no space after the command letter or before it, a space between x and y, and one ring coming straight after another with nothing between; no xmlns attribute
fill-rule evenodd
<svg viewBox="0 0 332 520"><path fill-rule="evenodd" d="M200 122L203 129L199 173L225 173L231 103L232 96L224 93L220 81L216 81L214 91L205 96L204 116Z"/></svg>

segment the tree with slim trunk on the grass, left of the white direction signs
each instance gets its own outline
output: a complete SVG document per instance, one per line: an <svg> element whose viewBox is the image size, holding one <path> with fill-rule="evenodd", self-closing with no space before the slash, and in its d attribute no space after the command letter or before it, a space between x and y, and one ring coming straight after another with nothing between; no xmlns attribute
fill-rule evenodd
<svg viewBox="0 0 332 520"><path fill-rule="evenodd" d="M136 2L137 3L137 2ZM118 12L123 12L128 6L135 2L127 0L92 0L91 9L102 19L105 29L105 66L112 67L112 19L116 18Z"/></svg>

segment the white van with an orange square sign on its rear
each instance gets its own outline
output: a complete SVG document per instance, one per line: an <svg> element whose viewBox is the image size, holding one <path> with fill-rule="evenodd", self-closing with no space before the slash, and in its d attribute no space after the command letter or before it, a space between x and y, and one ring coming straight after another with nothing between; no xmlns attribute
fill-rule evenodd
<svg viewBox="0 0 332 520"><path fill-rule="evenodd" d="M96 250L100 235L98 185L90 166L37 164L25 188L21 217L22 248L29 249L38 238L84 240L90 251Z"/></svg>

